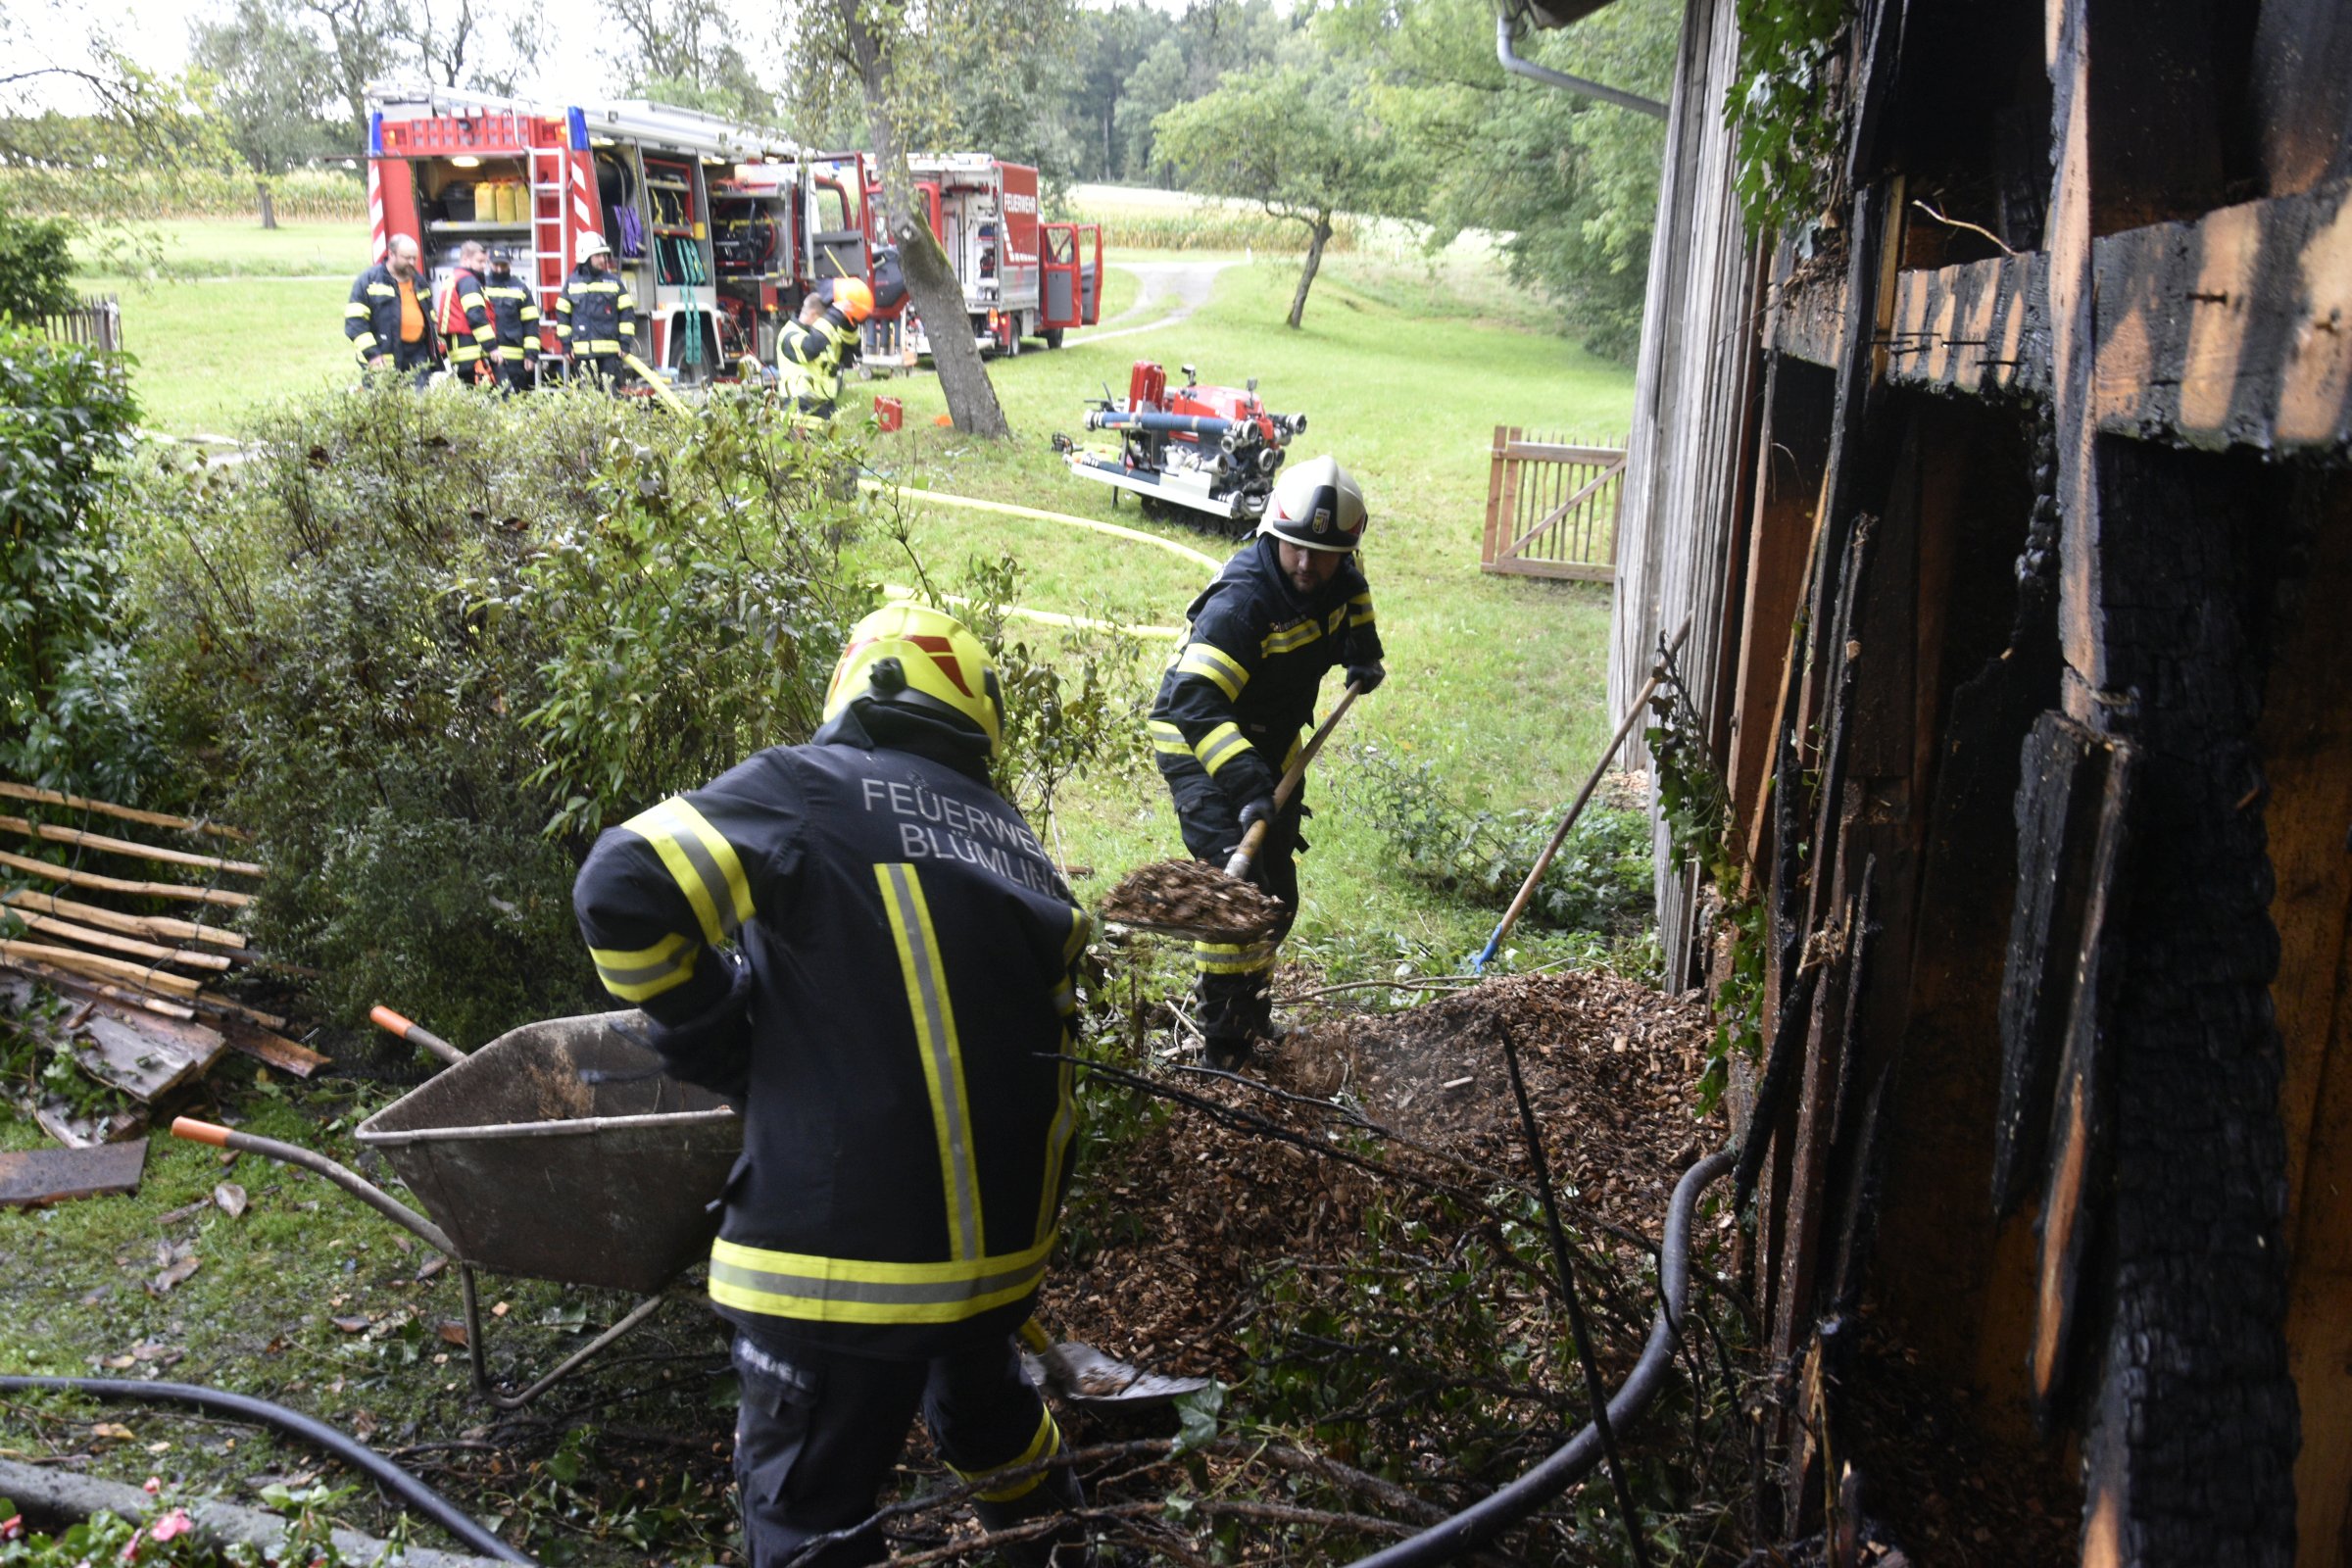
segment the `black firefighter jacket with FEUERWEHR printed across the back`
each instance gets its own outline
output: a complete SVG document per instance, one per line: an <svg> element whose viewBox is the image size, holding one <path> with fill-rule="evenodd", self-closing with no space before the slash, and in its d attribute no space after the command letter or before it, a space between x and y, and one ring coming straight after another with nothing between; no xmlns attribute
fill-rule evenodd
<svg viewBox="0 0 2352 1568"><path fill-rule="evenodd" d="M1028 1316L1089 922L1018 811L915 752L771 748L607 830L574 907L670 1070L743 1107L727 1316L891 1359Z"/></svg>

